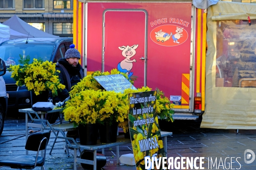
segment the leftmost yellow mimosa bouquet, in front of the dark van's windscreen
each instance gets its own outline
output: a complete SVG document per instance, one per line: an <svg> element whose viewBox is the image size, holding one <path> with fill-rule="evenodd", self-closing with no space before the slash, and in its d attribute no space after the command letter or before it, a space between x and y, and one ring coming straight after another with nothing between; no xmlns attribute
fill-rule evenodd
<svg viewBox="0 0 256 170"><path fill-rule="evenodd" d="M20 55L19 65L10 65L8 71L12 71L11 77L15 79L16 85L25 85L29 91L33 91L36 95L43 91L52 91L52 95L57 95L58 90L65 88L60 83L58 73L55 71L56 63L43 61L42 59L33 59L29 64L30 57L26 59Z"/></svg>

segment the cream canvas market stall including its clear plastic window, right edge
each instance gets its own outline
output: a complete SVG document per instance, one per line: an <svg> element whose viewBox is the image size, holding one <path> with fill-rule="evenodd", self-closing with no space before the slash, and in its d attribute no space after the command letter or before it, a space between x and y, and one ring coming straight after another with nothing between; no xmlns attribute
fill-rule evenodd
<svg viewBox="0 0 256 170"><path fill-rule="evenodd" d="M201 127L256 129L256 4L208 8L206 109Z"/></svg>

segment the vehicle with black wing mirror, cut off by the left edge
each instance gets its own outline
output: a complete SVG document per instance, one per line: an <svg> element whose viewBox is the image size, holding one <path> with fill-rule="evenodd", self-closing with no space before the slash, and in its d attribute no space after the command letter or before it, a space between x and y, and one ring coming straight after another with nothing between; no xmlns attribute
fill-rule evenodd
<svg viewBox="0 0 256 170"><path fill-rule="evenodd" d="M6 65L3 59L0 58L0 135L3 132L4 118L6 116L8 103L6 85L2 77L4 74L6 74Z"/></svg>

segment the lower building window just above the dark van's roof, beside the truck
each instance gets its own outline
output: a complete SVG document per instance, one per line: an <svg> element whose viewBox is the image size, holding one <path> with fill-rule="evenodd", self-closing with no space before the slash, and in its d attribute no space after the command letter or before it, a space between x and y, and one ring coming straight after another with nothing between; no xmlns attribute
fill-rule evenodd
<svg viewBox="0 0 256 170"><path fill-rule="evenodd" d="M73 37L73 23L53 23L53 35Z"/></svg>

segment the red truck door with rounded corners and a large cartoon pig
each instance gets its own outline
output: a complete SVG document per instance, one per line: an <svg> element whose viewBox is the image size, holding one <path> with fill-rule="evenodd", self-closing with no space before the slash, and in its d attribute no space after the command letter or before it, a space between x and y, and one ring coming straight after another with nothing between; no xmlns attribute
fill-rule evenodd
<svg viewBox="0 0 256 170"><path fill-rule="evenodd" d="M117 68L128 77L136 78L134 86L141 88L145 85L146 12L109 9L103 16L102 70Z"/></svg>

